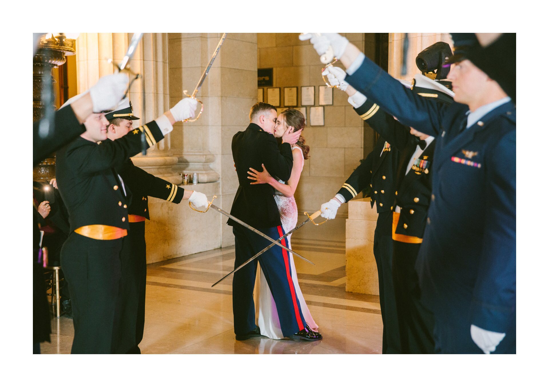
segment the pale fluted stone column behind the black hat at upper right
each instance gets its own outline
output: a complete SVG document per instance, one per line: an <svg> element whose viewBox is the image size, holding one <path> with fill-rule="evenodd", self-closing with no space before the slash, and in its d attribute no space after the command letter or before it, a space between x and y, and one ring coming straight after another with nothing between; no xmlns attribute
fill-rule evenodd
<svg viewBox="0 0 549 387"><path fill-rule="evenodd" d="M417 54L436 42L446 42L452 47L449 33L408 33L407 72L402 76L402 42L404 42L404 33L389 33L389 74L407 81L412 81L414 75L419 73L416 66Z"/></svg>

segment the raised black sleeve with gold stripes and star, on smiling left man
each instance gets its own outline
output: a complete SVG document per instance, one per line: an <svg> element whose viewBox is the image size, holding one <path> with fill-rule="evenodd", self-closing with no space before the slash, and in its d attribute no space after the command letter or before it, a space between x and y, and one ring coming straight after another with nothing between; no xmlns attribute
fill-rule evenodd
<svg viewBox="0 0 549 387"><path fill-rule="evenodd" d="M105 141L101 146L80 146L68 150L69 165L85 174L120 166L141 151L141 132L145 133L149 147L164 138L156 122L152 121L132 130L122 138Z"/></svg>

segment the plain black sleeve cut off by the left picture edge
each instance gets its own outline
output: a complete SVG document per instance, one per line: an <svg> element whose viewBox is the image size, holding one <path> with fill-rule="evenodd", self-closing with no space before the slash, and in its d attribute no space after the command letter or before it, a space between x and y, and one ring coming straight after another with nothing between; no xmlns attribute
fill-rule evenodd
<svg viewBox="0 0 549 387"><path fill-rule="evenodd" d="M46 138L38 136L40 121L32 124L32 165L36 166L44 158L60 147L70 143L86 131L78 122L72 107L65 106L55 112L55 126Z"/></svg>

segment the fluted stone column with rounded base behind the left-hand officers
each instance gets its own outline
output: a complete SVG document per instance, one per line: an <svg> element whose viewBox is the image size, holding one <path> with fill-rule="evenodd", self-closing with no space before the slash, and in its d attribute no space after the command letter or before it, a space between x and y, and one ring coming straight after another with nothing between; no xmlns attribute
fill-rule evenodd
<svg viewBox="0 0 549 387"><path fill-rule="evenodd" d="M131 36L128 33L82 33L79 36L76 53L79 92L88 89L99 77L114 72L108 59L119 63ZM169 109L167 34L144 33L130 68L142 75L133 82L129 93L133 111L141 118L134 123L137 126ZM139 154L132 160L149 173L181 184L181 176L173 170L178 158L171 151L170 134L149 149L147 156Z"/></svg>

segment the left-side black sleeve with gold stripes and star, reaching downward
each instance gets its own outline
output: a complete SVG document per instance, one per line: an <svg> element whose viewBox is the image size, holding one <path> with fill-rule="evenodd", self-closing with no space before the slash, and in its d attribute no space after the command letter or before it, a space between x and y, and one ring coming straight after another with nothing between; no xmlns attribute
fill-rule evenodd
<svg viewBox="0 0 549 387"><path fill-rule="evenodd" d="M124 181L131 187L139 187L139 191L147 196L158 197L173 203L180 203L185 190L167 180L145 172L136 167L131 160L120 170Z"/></svg>

